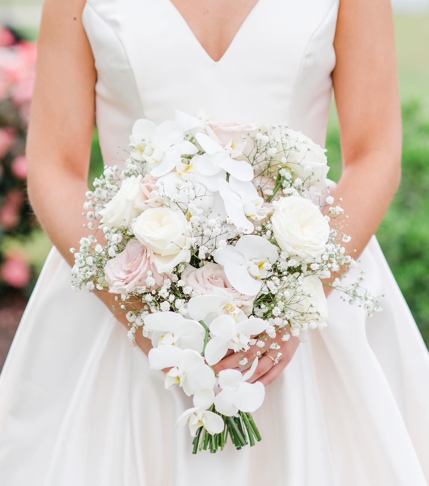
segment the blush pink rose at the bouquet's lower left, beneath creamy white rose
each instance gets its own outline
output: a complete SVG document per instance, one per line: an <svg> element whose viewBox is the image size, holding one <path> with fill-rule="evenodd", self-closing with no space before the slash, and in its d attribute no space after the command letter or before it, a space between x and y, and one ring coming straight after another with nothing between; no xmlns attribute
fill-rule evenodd
<svg viewBox="0 0 429 486"><path fill-rule="evenodd" d="M124 294L146 286L148 272L152 272L156 285L162 285L163 278L156 271L154 253L137 240L130 240L125 249L104 267L104 277L110 285L109 292Z"/></svg>

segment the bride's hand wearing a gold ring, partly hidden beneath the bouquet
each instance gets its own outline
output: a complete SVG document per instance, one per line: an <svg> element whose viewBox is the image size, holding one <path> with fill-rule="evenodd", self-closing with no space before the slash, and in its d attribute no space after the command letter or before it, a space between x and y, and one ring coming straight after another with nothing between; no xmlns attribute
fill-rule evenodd
<svg viewBox="0 0 429 486"><path fill-rule="evenodd" d="M292 360L295 354L296 348L298 347L299 340L296 337L291 336L289 341L278 342L280 349L270 349L266 351L263 355L259 356L259 361L255 373L249 382L261 382L265 386L269 385L273 380L275 380L280 373L285 369L287 364ZM225 356L219 363L213 366L216 373L227 368L236 368L239 366L239 361L242 358L247 358L249 362L253 361L256 357L259 347L251 346L248 351L240 353L232 353ZM274 364L274 358L276 353L282 353L277 364ZM270 357L269 357L270 356ZM273 358L273 359L271 359ZM246 370L247 371L247 370ZM243 374L245 371L243 371Z"/></svg>

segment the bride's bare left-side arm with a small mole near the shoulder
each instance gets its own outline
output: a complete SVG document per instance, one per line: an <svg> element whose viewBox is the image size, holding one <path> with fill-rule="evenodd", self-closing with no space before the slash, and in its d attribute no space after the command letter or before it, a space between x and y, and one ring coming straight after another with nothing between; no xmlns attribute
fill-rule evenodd
<svg viewBox="0 0 429 486"><path fill-rule="evenodd" d="M27 140L32 207L70 265L74 258L69 248L85 236L82 205L94 127L96 72L81 21L84 4L45 1ZM111 310L113 295L96 295ZM124 318L122 322L126 324ZM138 342L148 352L150 341L141 336Z"/></svg>

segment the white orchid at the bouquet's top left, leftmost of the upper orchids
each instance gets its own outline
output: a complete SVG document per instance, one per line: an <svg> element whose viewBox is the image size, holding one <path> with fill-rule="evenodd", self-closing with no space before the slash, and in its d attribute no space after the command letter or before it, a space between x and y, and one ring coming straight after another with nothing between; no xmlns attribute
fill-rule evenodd
<svg viewBox="0 0 429 486"><path fill-rule="evenodd" d="M182 155L198 152L197 147L184 139L183 130L175 121L164 121L159 126L141 119L133 126L130 136L131 156L145 160L154 177L169 173Z"/></svg>

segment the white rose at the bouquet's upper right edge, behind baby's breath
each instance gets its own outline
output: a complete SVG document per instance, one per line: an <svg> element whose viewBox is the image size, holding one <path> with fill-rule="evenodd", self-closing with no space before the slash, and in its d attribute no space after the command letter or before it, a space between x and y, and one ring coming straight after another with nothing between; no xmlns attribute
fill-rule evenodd
<svg viewBox="0 0 429 486"><path fill-rule="evenodd" d="M286 132L289 144L296 146L297 149L288 152L286 159L286 166L293 170L293 179L299 177L302 181L306 181L305 187L311 185L326 188L329 185L326 180L329 171L325 155L326 149L314 143L301 132L294 132L289 128Z"/></svg>

